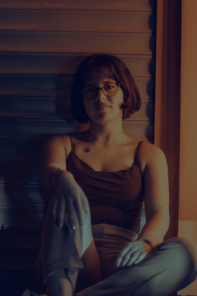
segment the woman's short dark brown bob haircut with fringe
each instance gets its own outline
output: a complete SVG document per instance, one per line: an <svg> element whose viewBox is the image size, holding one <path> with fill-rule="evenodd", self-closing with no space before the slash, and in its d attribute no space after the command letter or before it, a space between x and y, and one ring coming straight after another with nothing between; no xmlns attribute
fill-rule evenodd
<svg viewBox="0 0 197 296"><path fill-rule="evenodd" d="M93 77L106 76L121 84L124 98L121 109L128 118L141 107L139 90L125 63L111 54L93 54L84 59L76 70L71 93L71 111L74 118L88 123L89 117L83 104L82 89ZM123 119L124 119L123 118Z"/></svg>

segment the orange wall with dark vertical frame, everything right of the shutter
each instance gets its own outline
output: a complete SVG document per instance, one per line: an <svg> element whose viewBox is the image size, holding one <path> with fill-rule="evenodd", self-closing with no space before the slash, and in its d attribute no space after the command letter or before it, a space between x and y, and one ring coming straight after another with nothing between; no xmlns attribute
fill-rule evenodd
<svg viewBox="0 0 197 296"><path fill-rule="evenodd" d="M166 238L185 237L197 252L197 1L157 0L155 141L170 185ZM197 280L179 295L197 295Z"/></svg>

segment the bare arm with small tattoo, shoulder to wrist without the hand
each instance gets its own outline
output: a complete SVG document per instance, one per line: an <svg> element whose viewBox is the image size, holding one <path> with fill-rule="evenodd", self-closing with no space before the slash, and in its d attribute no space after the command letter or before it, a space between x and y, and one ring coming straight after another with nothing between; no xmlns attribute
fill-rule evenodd
<svg viewBox="0 0 197 296"><path fill-rule="evenodd" d="M144 164L144 205L146 224L138 238L148 239L152 247L163 242L169 227L169 185L167 162L158 147L143 143L141 161Z"/></svg>

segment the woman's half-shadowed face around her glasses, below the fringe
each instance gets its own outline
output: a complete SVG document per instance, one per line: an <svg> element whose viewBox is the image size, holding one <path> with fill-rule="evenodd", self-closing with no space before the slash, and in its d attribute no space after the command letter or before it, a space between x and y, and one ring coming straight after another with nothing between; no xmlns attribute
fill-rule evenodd
<svg viewBox="0 0 197 296"><path fill-rule="evenodd" d="M117 81L103 76L102 78L93 78L86 81L84 87L102 87L107 83L117 83ZM95 98L88 100L83 97L83 103L87 115L94 122L102 123L115 118L121 118L122 120L122 110L120 107L123 103L123 90L121 86L118 86L117 93L113 96L107 96L101 89L98 89Z"/></svg>

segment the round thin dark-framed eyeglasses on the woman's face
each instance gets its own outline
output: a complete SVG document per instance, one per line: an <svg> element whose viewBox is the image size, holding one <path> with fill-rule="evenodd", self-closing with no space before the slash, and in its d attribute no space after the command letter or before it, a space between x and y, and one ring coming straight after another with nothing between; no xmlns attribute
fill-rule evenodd
<svg viewBox="0 0 197 296"><path fill-rule="evenodd" d="M86 86L82 89L82 94L87 100L92 100L97 96L98 89L101 89L105 96L115 96L118 91L120 83L107 83L102 87Z"/></svg>

